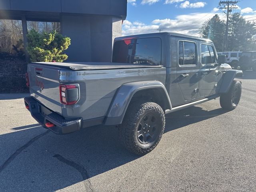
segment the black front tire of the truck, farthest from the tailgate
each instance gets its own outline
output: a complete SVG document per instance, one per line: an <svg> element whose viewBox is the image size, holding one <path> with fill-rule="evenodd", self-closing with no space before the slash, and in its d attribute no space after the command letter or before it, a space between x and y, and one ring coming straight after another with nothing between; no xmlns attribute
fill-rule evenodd
<svg viewBox="0 0 256 192"><path fill-rule="evenodd" d="M242 85L240 81L233 81L226 94L220 96L220 106L225 110L234 110L240 101L242 94Z"/></svg>

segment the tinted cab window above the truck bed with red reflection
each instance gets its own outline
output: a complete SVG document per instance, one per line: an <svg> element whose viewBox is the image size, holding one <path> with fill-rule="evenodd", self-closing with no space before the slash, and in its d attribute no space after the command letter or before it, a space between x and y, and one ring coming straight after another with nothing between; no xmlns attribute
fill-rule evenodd
<svg viewBox="0 0 256 192"><path fill-rule="evenodd" d="M129 38L114 43L112 62L161 65L161 53L160 38Z"/></svg>

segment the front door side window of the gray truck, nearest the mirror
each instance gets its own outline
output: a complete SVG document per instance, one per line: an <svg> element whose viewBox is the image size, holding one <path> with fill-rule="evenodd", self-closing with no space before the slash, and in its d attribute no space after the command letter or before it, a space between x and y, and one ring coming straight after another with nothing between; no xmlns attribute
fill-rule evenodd
<svg viewBox="0 0 256 192"><path fill-rule="evenodd" d="M215 64L216 56L212 45L201 44L202 64Z"/></svg>

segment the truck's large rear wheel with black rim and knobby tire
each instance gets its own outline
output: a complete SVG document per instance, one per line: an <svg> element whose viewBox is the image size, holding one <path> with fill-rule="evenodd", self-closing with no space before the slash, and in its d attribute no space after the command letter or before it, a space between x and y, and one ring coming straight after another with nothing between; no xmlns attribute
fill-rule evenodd
<svg viewBox="0 0 256 192"><path fill-rule="evenodd" d="M158 104L135 102L128 107L118 131L121 142L128 150L144 155L157 146L164 127L164 111Z"/></svg>

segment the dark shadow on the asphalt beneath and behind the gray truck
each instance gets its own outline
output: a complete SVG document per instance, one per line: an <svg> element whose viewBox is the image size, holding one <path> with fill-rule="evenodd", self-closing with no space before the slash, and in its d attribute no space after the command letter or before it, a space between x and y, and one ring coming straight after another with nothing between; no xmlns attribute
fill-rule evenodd
<svg viewBox="0 0 256 192"><path fill-rule="evenodd" d="M222 109L206 111L194 106L167 114L165 132L225 112ZM20 128L13 129L20 130ZM8 137L21 139L19 138L21 132L34 129L36 128L3 134L0 135L0 140L6 140L11 144L13 140ZM11 158L12 162L2 172L0 169L1 191L14 189L56 191L79 182L83 182L84 186L90 186L90 178L138 158L147 158L134 155L121 146L115 126L94 126L69 135L56 135L48 132L32 141L21 148L22 150L16 154L15 158ZM166 141L162 140L162 142ZM156 148L148 155L154 158L157 150Z"/></svg>

